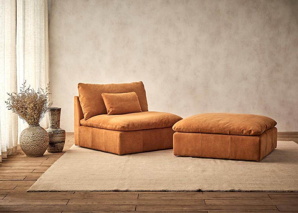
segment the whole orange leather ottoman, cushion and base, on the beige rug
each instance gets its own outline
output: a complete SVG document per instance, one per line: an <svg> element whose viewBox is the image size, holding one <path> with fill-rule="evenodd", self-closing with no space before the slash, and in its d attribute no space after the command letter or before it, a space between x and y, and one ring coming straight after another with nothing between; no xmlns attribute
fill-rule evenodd
<svg viewBox="0 0 298 213"><path fill-rule="evenodd" d="M174 124L174 155L259 161L277 146L277 123L250 114L205 113Z"/></svg>

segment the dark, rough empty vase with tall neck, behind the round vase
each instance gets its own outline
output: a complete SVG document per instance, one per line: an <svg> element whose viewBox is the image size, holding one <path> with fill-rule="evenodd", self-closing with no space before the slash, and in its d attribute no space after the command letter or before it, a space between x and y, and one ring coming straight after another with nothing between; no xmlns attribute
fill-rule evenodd
<svg viewBox="0 0 298 213"><path fill-rule="evenodd" d="M60 128L61 108L50 108L50 128L47 129L49 136L48 152L62 152L65 143L65 130Z"/></svg>

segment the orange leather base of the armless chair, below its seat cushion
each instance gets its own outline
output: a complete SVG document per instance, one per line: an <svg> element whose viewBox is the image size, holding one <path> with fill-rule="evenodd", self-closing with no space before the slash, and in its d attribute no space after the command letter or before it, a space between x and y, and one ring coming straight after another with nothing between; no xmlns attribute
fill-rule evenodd
<svg viewBox="0 0 298 213"><path fill-rule="evenodd" d="M118 155L173 148L172 127L135 131L114 131L79 127L75 145Z"/></svg>

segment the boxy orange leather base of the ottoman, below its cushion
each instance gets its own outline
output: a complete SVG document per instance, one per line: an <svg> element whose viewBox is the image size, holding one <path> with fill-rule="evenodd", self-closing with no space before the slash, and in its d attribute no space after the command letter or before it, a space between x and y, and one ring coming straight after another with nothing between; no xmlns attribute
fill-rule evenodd
<svg viewBox="0 0 298 213"><path fill-rule="evenodd" d="M277 128L261 135L221 135L175 132L174 155L259 161L277 146Z"/></svg>

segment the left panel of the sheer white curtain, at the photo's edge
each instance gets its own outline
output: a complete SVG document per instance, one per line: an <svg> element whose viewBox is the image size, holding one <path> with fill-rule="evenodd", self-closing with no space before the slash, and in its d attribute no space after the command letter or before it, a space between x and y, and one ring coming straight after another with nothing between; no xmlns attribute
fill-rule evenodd
<svg viewBox="0 0 298 213"><path fill-rule="evenodd" d="M0 162L17 151L18 118L7 110L7 92L17 91L16 0L0 1Z"/></svg>

